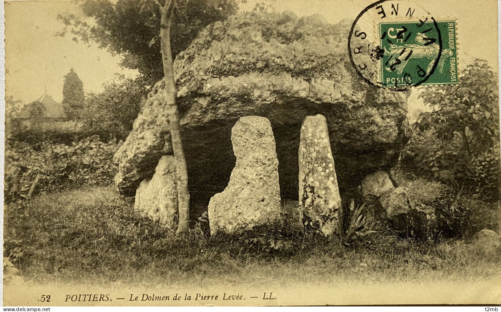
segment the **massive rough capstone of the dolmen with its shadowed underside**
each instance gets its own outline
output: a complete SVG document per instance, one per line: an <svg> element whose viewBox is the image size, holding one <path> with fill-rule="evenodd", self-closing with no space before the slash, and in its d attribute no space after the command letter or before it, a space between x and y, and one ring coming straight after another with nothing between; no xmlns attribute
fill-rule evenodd
<svg viewBox="0 0 501 312"><path fill-rule="evenodd" d="M176 56L174 71L191 199L204 205L229 181L231 127L242 116L267 117L277 141L281 195L298 197L298 149L306 116L328 122L340 190L396 164L408 138L406 92L368 85L348 56L351 22L325 23L290 12L235 14L208 25ZM172 154L163 81L152 87L115 155L115 183L135 194Z"/></svg>

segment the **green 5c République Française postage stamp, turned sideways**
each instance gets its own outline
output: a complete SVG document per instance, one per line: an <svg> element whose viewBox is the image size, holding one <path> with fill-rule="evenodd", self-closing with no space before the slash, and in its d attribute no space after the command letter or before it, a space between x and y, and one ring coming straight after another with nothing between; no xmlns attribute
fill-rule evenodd
<svg viewBox="0 0 501 312"><path fill-rule="evenodd" d="M380 23L379 36L382 86L458 83L455 20Z"/></svg>

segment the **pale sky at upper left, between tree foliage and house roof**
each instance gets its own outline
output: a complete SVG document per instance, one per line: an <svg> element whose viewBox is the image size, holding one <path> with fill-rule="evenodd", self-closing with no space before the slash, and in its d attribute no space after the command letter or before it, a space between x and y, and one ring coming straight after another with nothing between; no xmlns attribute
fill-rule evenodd
<svg viewBox="0 0 501 312"><path fill-rule="evenodd" d="M136 75L118 66L119 57L96 46L55 36L63 29L58 13L81 15L73 1L9 1L6 15L6 95L29 103L47 85L56 101L63 100L64 75L71 68L83 81L85 91L100 91L115 73Z"/></svg>

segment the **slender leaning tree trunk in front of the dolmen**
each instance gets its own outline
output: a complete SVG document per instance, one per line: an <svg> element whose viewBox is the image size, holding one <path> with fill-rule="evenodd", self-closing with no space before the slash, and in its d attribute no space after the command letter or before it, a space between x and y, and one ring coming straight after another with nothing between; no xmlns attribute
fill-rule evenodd
<svg viewBox="0 0 501 312"><path fill-rule="evenodd" d="M189 222L189 193L188 193L188 170L184 157L183 143L179 130L179 111L176 105L176 84L174 81L174 68L172 67L172 54L170 50L170 24L174 0L166 0L162 6L160 19L160 43L162 46L162 61L165 83L165 100L168 105L170 136L172 138L172 150L176 161L177 175L177 202L179 212L179 225L177 234L188 231Z"/></svg>

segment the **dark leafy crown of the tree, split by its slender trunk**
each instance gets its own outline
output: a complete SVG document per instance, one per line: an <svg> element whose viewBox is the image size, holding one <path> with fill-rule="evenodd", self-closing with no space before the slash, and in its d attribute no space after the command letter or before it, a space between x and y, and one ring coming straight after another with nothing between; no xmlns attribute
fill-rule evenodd
<svg viewBox="0 0 501 312"><path fill-rule="evenodd" d="M163 4L163 3L162 3ZM91 25L75 15L59 15L65 25L59 35L70 32L73 40L97 43L113 55L122 56L123 67L137 69L156 82L163 77L160 54L160 9L153 0L84 0L84 14ZM224 20L236 11L235 0L178 0L171 27L172 59L185 50L206 25Z"/></svg>

